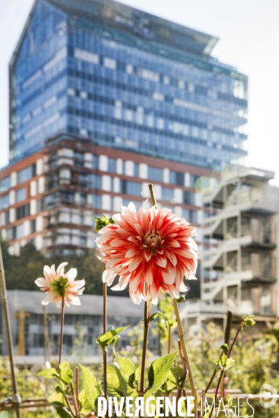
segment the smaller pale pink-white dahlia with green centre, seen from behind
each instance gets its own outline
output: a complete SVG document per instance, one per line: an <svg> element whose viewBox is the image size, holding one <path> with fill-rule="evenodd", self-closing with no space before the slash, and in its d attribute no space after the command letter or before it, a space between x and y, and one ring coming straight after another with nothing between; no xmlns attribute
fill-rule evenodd
<svg viewBox="0 0 279 418"><path fill-rule="evenodd" d="M45 265L43 269L44 277L39 277L35 280L40 290L46 293L45 299L42 304L46 305L50 302L55 302L59 307L62 297L64 297L66 306L70 306L69 303L80 305L80 297L84 291L85 280L75 281L77 277L77 269L70 268L68 272L64 272L64 268L68 263L61 263L55 271L55 265L52 267Z"/></svg>

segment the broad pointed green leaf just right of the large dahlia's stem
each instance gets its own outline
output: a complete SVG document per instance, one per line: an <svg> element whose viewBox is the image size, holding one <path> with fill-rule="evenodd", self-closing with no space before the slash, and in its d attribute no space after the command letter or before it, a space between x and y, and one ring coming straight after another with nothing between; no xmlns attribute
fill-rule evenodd
<svg viewBox="0 0 279 418"><path fill-rule="evenodd" d="M159 357L151 364L148 371L149 392L156 392L165 383L176 354L177 351L165 355L165 357Z"/></svg>

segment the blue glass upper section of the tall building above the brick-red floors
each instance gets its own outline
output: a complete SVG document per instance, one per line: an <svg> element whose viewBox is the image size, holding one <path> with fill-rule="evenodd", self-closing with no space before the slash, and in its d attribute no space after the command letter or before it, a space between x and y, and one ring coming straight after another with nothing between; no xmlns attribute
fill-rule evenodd
<svg viewBox="0 0 279 418"><path fill-rule="evenodd" d="M38 0L15 52L11 160L59 132L214 169L246 155L247 77L209 56L216 39L114 1L76 3Z"/></svg>

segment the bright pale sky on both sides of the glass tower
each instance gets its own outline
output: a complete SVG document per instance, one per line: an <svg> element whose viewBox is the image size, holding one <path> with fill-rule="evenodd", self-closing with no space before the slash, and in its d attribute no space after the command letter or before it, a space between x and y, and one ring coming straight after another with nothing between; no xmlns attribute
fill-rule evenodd
<svg viewBox="0 0 279 418"><path fill-rule="evenodd" d="M219 38L212 55L249 77L246 164L276 171L279 185L279 1L121 2ZM32 4L0 0L0 167L8 163L8 62Z"/></svg>

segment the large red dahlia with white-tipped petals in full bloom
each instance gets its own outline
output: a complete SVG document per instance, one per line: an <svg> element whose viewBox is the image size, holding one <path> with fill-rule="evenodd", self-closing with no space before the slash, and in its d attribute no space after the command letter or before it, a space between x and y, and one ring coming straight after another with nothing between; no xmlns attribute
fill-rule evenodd
<svg viewBox="0 0 279 418"><path fill-rule="evenodd" d="M150 298L157 303L164 298L163 292L178 298L179 291L187 290L183 277L195 279L197 269L197 245L191 238L195 227L167 208L142 207L136 212L133 203L112 219L115 224L100 229L96 240L108 286L119 275L112 289L129 285L130 297L137 304Z"/></svg>

